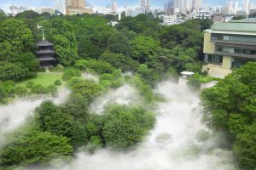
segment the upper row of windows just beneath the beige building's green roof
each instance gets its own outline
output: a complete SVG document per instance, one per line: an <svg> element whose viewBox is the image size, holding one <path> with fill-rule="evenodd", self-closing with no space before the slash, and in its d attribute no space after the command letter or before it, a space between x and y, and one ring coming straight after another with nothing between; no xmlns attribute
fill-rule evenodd
<svg viewBox="0 0 256 170"><path fill-rule="evenodd" d="M212 34L212 40L224 40L224 41L234 41L234 42L256 42L256 37Z"/></svg>

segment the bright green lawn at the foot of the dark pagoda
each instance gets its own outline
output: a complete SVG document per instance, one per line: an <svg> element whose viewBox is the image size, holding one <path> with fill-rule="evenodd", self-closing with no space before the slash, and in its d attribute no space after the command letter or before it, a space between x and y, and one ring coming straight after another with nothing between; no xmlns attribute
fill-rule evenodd
<svg viewBox="0 0 256 170"><path fill-rule="evenodd" d="M47 87L54 84L55 80L61 80L62 74L63 73L59 72L38 72L37 77L33 77L22 82L17 82L17 86L26 87L27 82L35 82Z"/></svg>

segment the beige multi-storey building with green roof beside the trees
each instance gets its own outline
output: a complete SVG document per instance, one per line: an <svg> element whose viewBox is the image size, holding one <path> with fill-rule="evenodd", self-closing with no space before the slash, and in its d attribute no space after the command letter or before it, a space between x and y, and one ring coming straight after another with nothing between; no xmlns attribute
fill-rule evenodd
<svg viewBox="0 0 256 170"><path fill-rule="evenodd" d="M224 78L233 68L256 61L256 20L217 22L204 31L203 70Z"/></svg>

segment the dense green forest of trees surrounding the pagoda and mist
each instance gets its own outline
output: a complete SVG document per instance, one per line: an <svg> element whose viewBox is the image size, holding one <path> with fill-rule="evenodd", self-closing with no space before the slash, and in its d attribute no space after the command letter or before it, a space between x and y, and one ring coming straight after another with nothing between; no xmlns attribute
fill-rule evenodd
<svg viewBox="0 0 256 170"><path fill-rule="evenodd" d="M187 20L177 26L160 26L152 14L125 17L111 26L111 15L51 16L26 11L15 17L0 16L0 102L32 94L55 95L65 82L71 94L62 105L45 101L35 116L15 132L8 133L0 150L0 167L53 165L60 157L71 161L75 152L94 153L101 148L130 150L154 127L150 110L161 99L154 94L157 82L180 71L201 71L203 32L211 20ZM54 43L61 80L43 84L19 82L37 77L36 42L45 37ZM249 63L203 91L205 121L226 133L241 168L256 167L255 80L256 65ZM84 71L99 76L99 82L79 78ZM124 76L123 73L130 72ZM108 105L104 114L90 114L89 105L110 88L131 84L138 89L141 104ZM196 85L196 82L191 82Z"/></svg>

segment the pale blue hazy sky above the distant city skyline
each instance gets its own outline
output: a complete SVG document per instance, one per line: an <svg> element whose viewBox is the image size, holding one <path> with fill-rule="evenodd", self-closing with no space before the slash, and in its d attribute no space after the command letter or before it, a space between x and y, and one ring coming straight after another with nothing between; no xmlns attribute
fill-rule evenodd
<svg viewBox="0 0 256 170"><path fill-rule="evenodd" d="M165 0L151 0L152 6L162 7ZM117 0L119 5L123 5L127 2L127 5L137 5L139 0ZM0 0L0 8L7 8L9 4L14 3L21 6L50 6L54 7L55 0ZM111 3L111 0L87 0L86 3L94 3L99 6L106 6ZM203 3L210 3L212 5L223 5L225 0L203 0ZM241 6L241 0L240 0Z"/></svg>

